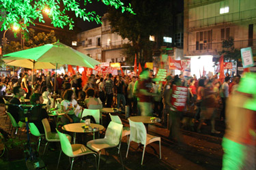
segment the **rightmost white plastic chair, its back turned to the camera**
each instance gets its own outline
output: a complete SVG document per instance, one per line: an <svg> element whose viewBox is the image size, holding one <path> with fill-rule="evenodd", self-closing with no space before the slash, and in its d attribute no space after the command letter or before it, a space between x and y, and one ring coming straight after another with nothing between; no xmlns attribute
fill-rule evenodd
<svg viewBox="0 0 256 170"><path fill-rule="evenodd" d="M142 160L141 160L141 165L143 165L143 159L144 159L146 146L154 141L159 141L159 158L161 159L161 138L147 134L147 130L146 130L143 122L132 122L132 120L130 120L130 119L128 119L128 120L129 120L129 124L130 124L130 139L129 139L128 148L127 148L127 152L126 152L126 158L128 156L130 141L135 141L136 143L141 143L144 146Z"/></svg>

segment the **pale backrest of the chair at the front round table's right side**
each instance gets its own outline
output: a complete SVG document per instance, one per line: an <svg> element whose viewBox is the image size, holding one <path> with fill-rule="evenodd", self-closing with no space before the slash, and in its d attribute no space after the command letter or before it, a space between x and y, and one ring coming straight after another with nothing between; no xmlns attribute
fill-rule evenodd
<svg viewBox="0 0 256 170"><path fill-rule="evenodd" d="M106 129L104 139L107 139L109 143L117 146L122 138L123 124L119 124L111 121Z"/></svg>

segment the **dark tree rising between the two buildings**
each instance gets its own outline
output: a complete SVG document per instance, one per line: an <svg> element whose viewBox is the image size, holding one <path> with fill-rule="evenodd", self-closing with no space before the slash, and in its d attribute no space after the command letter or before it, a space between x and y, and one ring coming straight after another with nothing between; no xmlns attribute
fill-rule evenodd
<svg viewBox="0 0 256 170"><path fill-rule="evenodd" d="M122 38L128 38L132 44L124 46L127 61L134 61L134 53L141 64L152 61L152 50L156 45L150 41L150 35L162 37L171 31L173 20L173 2L165 0L130 0L134 13L122 13L121 10L109 8L109 21L114 32ZM161 40L160 40L161 41ZM133 56L133 57L129 57ZM132 59L132 61L130 60Z"/></svg>

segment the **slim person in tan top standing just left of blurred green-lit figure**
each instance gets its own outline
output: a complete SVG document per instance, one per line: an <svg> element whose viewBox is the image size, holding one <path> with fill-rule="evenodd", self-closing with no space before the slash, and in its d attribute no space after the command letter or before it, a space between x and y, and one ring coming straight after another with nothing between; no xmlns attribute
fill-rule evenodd
<svg viewBox="0 0 256 170"><path fill-rule="evenodd" d="M133 95L133 89L134 89L134 84L136 82L136 77L133 76L132 77L132 82L130 82L128 84L128 88L127 88L127 92L128 92L128 105L130 107L130 113L129 115L132 114L136 114L137 113L137 107L135 108L134 103L137 102L137 98L134 98ZM136 100L136 101L135 101Z"/></svg>

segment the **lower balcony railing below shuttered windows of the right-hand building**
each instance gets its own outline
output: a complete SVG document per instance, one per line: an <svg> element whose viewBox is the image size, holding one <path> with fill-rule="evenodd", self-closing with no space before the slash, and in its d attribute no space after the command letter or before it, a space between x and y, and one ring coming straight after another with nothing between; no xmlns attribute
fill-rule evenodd
<svg viewBox="0 0 256 170"><path fill-rule="evenodd" d="M256 39L246 39L246 40L240 40L240 41L234 41L234 48L241 49L246 47L251 47L253 50L256 49ZM188 45L188 52L201 52L206 50L215 50L215 51L221 51L223 43L208 43L203 44L203 46L200 46L200 44L197 45Z"/></svg>

